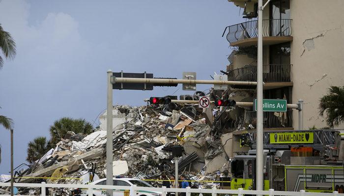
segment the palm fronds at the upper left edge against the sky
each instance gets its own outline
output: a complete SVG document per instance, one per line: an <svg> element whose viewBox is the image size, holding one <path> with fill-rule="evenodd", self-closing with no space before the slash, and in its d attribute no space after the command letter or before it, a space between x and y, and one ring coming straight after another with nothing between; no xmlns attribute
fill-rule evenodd
<svg viewBox="0 0 344 196"><path fill-rule="evenodd" d="M14 42L11 34L4 31L0 24L0 48L5 58L13 59L16 55L16 43ZM3 66L3 59L0 56L0 68Z"/></svg>

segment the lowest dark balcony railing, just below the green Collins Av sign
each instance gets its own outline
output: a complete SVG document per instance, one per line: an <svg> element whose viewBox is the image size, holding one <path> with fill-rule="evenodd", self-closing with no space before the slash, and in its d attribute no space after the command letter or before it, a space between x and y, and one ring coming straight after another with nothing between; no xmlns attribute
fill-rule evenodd
<svg viewBox="0 0 344 196"><path fill-rule="evenodd" d="M244 122L247 125L252 124L254 127L257 127L257 112L245 112ZM292 110L287 110L287 112L264 112L263 127L292 127Z"/></svg>

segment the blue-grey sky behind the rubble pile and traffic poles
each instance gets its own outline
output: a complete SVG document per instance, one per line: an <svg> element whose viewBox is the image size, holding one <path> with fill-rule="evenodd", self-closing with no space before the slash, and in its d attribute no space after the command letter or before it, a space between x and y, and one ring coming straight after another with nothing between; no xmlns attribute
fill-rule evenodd
<svg viewBox="0 0 344 196"><path fill-rule="evenodd" d="M197 72L198 79L226 70L230 49L221 35L242 21L227 0L1 0L0 23L17 44L16 58L0 70L0 114L15 123L14 166L26 163L29 141L49 138L55 120L92 122L105 109L109 69L177 78ZM143 105L175 91L194 93L181 85L115 90L114 103ZM0 136L0 173L8 174L10 135L1 126Z"/></svg>

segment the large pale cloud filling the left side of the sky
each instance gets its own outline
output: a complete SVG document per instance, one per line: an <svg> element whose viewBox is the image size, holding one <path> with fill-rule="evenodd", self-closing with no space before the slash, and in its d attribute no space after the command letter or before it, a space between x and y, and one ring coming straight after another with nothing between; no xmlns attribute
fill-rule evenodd
<svg viewBox="0 0 344 196"><path fill-rule="evenodd" d="M91 53L71 15L47 13L32 23L29 13L26 0L0 1L0 23L17 45L17 56L0 71L0 114L13 118L15 144L21 144L15 146L15 165L24 161L33 137L47 136L49 125L63 113L73 116L71 99L78 94L73 75ZM7 137L2 127L0 132ZM0 144L1 173L9 168L9 141Z"/></svg>

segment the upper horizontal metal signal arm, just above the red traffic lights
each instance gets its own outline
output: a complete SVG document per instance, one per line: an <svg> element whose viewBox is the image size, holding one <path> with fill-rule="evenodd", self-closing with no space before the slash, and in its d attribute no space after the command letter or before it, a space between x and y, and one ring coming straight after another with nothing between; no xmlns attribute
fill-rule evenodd
<svg viewBox="0 0 344 196"><path fill-rule="evenodd" d="M257 85L257 82L247 82L247 81L132 78L132 77L115 77L115 76L113 76L113 83L220 84L220 85L249 85L249 86L256 86Z"/></svg>

